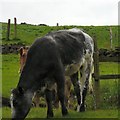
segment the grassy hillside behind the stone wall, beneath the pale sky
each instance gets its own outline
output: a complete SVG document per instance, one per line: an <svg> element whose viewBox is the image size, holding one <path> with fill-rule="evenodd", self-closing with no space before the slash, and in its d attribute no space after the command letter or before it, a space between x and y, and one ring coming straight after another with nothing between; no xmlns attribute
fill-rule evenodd
<svg viewBox="0 0 120 120"><path fill-rule="evenodd" d="M6 40L7 24L2 23L2 43L24 43L31 45L35 38L42 37L50 31L70 28L83 29L89 35L96 36L99 48L110 48L110 26L37 26L28 24L17 25L17 39L14 38L14 25L11 24L10 40ZM118 26L111 26L113 47L118 46ZM1 29L0 29L1 30Z"/></svg>

